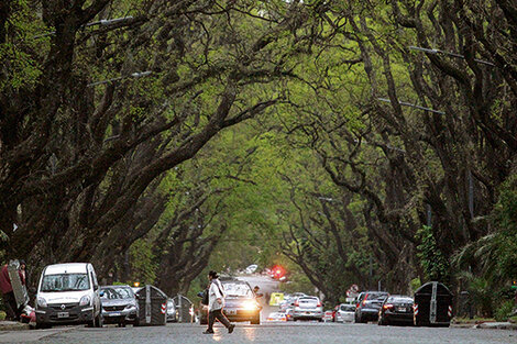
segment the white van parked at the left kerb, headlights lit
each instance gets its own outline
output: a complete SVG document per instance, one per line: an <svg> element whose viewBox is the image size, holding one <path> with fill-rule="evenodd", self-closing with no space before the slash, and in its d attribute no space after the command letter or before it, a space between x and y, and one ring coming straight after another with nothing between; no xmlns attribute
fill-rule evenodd
<svg viewBox="0 0 517 344"><path fill-rule="evenodd" d="M36 325L88 324L102 328L99 284L89 263L46 266L37 285Z"/></svg>

